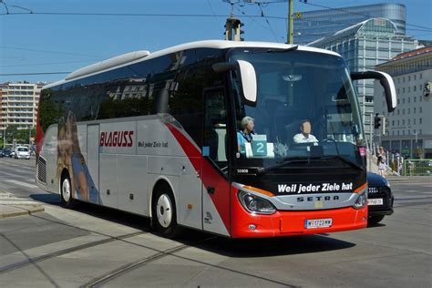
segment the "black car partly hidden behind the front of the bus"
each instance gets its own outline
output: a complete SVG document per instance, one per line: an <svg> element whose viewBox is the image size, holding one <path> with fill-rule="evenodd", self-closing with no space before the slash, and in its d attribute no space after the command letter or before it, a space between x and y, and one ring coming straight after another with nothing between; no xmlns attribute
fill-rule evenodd
<svg viewBox="0 0 432 288"><path fill-rule="evenodd" d="M367 172L367 204L369 219L367 223L374 225L382 221L386 215L393 214L393 192L390 189L390 183L386 178Z"/></svg>

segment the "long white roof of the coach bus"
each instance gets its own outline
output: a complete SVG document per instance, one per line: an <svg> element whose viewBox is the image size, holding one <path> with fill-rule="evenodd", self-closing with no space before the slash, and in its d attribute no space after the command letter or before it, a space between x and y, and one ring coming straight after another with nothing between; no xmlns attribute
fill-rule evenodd
<svg viewBox="0 0 432 288"><path fill-rule="evenodd" d="M79 78L88 77L97 75L102 72L106 72L109 70L112 70L114 68L118 67L124 67L130 64L138 63L140 61L146 61L152 58L161 57L164 55L169 55L171 53L175 53L182 50L188 50L193 48L216 48L216 49L226 49L226 48L234 48L234 47L266 47L266 48L280 48L280 49L287 49L290 48L292 44L282 44L282 43L273 43L273 42L252 42L252 41L226 41L226 40L204 40L204 41L197 41L197 42L190 42L186 44L181 44L178 46L172 46L169 48L165 48L162 50L159 50L154 53L149 53L149 51L136 51L136 52L130 52L127 54L120 55L118 57L112 57L108 58L107 60L89 65L87 67L79 68L69 75L65 77L63 80L50 83L43 87L43 89L50 88L50 87L56 87L58 85L62 85L71 81L75 81ZM339 54L324 50L320 48L315 48L311 46L298 46L298 50L300 51L310 51L315 53L323 53L323 54L329 54L334 55L337 57L340 57Z"/></svg>

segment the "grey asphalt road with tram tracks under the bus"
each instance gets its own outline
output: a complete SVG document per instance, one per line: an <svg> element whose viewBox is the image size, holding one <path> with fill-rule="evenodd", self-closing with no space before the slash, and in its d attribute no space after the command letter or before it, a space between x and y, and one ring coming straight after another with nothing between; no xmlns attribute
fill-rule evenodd
<svg viewBox="0 0 432 288"><path fill-rule="evenodd" d="M58 206L34 160L0 159L0 190L46 211L0 220L2 287L432 286L432 179L393 180L395 213L359 231L231 241L188 231L163 239L149 220Z"/></svg>

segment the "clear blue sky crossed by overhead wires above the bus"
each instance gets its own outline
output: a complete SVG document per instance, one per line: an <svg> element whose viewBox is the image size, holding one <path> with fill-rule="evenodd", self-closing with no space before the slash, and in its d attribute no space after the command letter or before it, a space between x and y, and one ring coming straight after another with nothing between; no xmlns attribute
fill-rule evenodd
<svg viewBox="0 0 432 288"><path fill-rule="evenodd" d="M279 3L234 5L245 40L286 42L288 4L269 1ZM431 0L294 0L294 12L378 3L406 5L406 34L432 40ZM52 82L131 51L222 39L230 12L222 0L0 0L0 83Z"/></svg>

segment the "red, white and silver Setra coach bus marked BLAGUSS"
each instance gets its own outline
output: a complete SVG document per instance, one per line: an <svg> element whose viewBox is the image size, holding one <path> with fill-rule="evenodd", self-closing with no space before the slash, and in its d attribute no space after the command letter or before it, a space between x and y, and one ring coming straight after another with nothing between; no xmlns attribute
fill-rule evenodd
<svg viewBox="0 0 432 288"><path fill-rule="evenodd" d="M150 217L167 237L181 226L232 238L364 228L352 80L371 77L393 110L390 77L350 76L342 57L308 46L212 40L114 57L43 88L36 182L66 207Z"/></svg>

